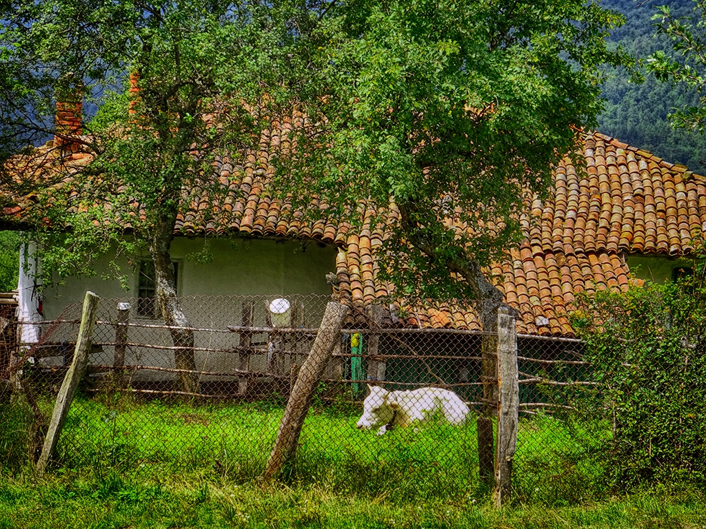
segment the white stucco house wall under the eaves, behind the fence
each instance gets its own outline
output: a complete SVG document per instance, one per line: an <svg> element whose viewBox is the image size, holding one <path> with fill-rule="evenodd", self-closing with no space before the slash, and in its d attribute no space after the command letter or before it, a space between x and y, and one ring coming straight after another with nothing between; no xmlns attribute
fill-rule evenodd
<svg viewBox="0 0 706 529"><path fill-rule="evenodd" d="M208 351L196 351L196 363L199 370L231 372L239 367L239 334L228 332L229 325L242 322L246 296L251 296L255 303L253 323L265 326L267 307L274 298L287 298L292 302L296 315L294 327L318 327L325 309L325 301L330 299L331 286L326 284L325 274L335 271L337 249L332 246L309 243L306 248L297 241L275 241L272 239L254 239L237 241L210 241L213 260L199 264L189 259L190 253L203 248L203 239L177 238L172 245L172 259L179 262L179 296L184 310L194 327L217 329L217 332L194 333L196 348ZM73 320L80 317L80 303L85 291L90 290L102 298L99 305L98 320L115 321L119 302L129 302L131 322L156 324L162 322L138 317L136 311L137 279L126 260L119 263L124 272L129 272L129 291L124 291L118 281L105 281L100 275L107 269L109 257L97 266L97 275L92 278L70 278L65 286L52 287L44 291L44 317L56 319L64 308L71 305L71 310L64 312L62 319ZM310 298L310 294L318 294ZM28 309L31 303L28 305ZM44 329L48 332L48 329ZM76 339L78 324L61 324L52 330L51 343ZM31 337L29 341L31 340ZM253 346L268 348L273 340L268 333L256 333L252 336ZM94 351L91 363L94 365L112 365L114 358L115 329L112 325L96 327L94 342L107 344L103 351ZM156 367L174 367L173 353L170 349L172 340L165 329L130 327L128 342L148 343L162 348L129 346L126 350L126 365L149 365ZM284 346L287 351L303 353L306 343L288 341ZM304 348L304 349L302 349ZM47 355L40 360L44 365L61 365L64 357L61 349L56 355ZM284 366L295 361L301 363L301 356L286 355ZM252 355L251 369L267 371L267 356ZM133 381L144 379L170 379L175 375L170 372L143 370L134 375ZM208 377L207 377L208 378ZM222 379L222 377L220 377Z"/></svg>

